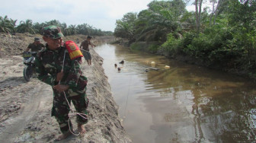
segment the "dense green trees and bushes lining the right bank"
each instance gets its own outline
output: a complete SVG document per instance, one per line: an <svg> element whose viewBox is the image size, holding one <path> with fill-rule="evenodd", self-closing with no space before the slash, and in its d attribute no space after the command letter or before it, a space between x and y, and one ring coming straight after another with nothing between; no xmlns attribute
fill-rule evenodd
<svg viewBox="0 0 256 143"><path fill-rule="evenodd" d="M194 0L195 11L187 11L187 2L152 1L139 14L124 14L114 36L126 38L132 48L146 43L149 52L188 56L256 77L256 1ZM203 8L206 3L211 6Z"/></svg>

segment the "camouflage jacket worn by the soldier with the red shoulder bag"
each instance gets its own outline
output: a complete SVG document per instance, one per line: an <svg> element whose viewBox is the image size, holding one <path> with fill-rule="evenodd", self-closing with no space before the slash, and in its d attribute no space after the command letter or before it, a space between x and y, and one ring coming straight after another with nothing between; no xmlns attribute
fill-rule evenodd
<svg viewBox="0 0 256 143"><path fill-rule="evenodd" d="M59 84L58 82L56 83L56 75L62 70L64 54L64 75L60 84L69 85L69 94L71 96L76 95L75 93L85 92L87 78L82 75L82 57L71 60L69 52L63 46L59 47L59 49L51 50L46 45L46 49L38 52L35 61L37 78L51 86Z"/></svg>

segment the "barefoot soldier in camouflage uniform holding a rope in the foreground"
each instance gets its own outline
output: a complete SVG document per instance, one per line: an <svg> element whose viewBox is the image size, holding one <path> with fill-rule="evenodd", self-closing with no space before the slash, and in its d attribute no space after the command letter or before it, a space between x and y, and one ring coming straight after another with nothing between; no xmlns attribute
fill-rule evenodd
<svg viewBox="0 0 256 143"><path fill-rule="evenodd" d="M52 116L59 122L62 135L57 140L62 140L71 135L69 125L69 103L75 106L77 113L87 113L88 98L85 94L87 78L82 75L82 57L70 59L65 46L61 46L63 34L59 27L49 26L43 28L43 40L46 41L46 49L39 52L36 57L37 78L53 87ZM64 58L65 55L65 58ZM63 59L64 62L63 62ZM62 65L64 68L62 70ZM65 94L64 94L65 92ZM69 123L68 123L69 122ZM88 119L77 116L78 132L85 133L85 123Z"/></svg>

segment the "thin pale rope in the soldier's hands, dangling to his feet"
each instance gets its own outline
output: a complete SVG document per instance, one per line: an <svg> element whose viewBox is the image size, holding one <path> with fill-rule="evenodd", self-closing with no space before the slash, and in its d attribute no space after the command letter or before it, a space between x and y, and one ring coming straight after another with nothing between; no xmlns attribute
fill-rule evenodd
<svg viewBox="0 0 256 143"><path fill-rule="evenodd" d="M65 50L65 52L64 52L64 58L63 58L63 62L62 62L62 71L63 71L63 69L64 69L65 57L66 57L66 50ZM83 65L82 65L82 66L83 66ZM81 67L81 68L82 68L82 67ZM78 78L79 78L79 77L80 77L80 74L78 75ZM60 83L60 81L59 81L59 83ZM68 105L69 105L69 109L71 110L71 113L69 113L69 121L68 121L68 124L69 124L69 122L70 122L70 118L71 118L72 116L75 116L75 115L81 116L81 117L84 118L84 119L88 119L88 117L87 117L87 115L86 115L85 113L75 113L75 112L72 110L72 108L71 108L71 105L70 105L70 103L69 103L69 100L68 100L68 98L66 97L65 91L63 91L63 94L64 94L64 97L65 97L65 99L66 99L66 102L67 102ZM80 135L80 132L79 132L78 134L76 134L75 132L73 132L70 125L69 125L69 132L71 132L73 135Z"/></svg>

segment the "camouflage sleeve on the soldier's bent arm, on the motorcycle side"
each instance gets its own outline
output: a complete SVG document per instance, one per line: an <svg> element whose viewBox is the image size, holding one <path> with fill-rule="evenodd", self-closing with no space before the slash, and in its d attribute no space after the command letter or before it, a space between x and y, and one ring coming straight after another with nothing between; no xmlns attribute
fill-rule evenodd
<svg viewBox="0 0 256 143"><path fill-rule="evenodd" d="M37 56L36 56L35 63L36 63L37 78L46 84L50 84L51 86L55 85L56 77L53 77L52 75L49 75L48 73L46 73L42 62L40 61L39 57L37 57Z"/></svg>

